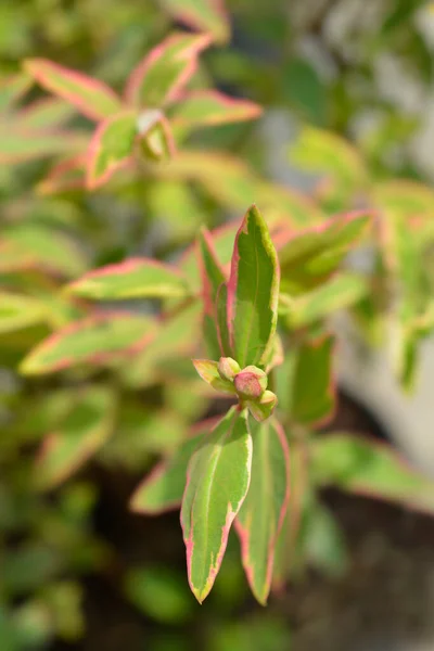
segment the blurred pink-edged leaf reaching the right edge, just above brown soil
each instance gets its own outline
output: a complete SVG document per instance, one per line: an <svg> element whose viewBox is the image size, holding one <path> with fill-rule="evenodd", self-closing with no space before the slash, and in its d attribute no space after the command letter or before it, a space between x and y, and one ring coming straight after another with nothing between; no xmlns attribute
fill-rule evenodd
<svg viewBox="0 0 434 651"><path fill-rule="evenodd" d="M336 432L312 444L312 476L321 485L434 513L434 482L386 444Z"/></svg>

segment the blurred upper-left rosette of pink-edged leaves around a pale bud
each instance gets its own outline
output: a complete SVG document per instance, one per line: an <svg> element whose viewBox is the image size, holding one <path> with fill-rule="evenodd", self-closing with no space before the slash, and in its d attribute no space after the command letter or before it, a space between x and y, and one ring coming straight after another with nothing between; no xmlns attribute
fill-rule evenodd
<svg viewBox="0 0 434 651"><path fill-rule="evenodd" d="M102 186L115 170L129 165L136 154L151 161L173 155L174 137L163 110L179 103L182 89L197 68L199 54L210 41L209 34L169 36L132 71L124 98L104 82L51 61L25 62L26 72L43 88L99 123L85 162L89 189ZM259 113L259 107L251 102L204 91L187 95L175 111L174 120L184 128L252 119ZM49 188L53 184L51 178Z"/></svg>

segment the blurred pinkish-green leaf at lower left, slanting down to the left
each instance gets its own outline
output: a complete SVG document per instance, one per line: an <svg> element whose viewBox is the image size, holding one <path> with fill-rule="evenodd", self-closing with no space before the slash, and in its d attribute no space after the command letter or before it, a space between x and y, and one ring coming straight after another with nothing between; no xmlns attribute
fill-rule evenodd
<svg viewBox="0 0 434 651"><path fill-rule="evenodd" d="M36 460L39 488L55 486L82 465L112 433L114 396L103 387L86 387L58 430L49 434Z"/></svg>

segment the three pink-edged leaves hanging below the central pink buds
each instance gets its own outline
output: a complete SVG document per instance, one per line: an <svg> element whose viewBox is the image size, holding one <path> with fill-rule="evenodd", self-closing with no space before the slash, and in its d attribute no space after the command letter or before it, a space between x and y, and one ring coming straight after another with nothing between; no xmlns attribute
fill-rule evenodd
<svg viewBox="0 0 434 651"><path fill-rule="evenodd" d="M199 434L196 430L156 467L135 493L131 506L141 513L159 513L177 507L183 494L189 580L201 602L213 587L235 520L248 583L265 603L289 500L288 443L276 421L248 424L245 411L235 408L212 432L209 427L204 422Z"/></svg>

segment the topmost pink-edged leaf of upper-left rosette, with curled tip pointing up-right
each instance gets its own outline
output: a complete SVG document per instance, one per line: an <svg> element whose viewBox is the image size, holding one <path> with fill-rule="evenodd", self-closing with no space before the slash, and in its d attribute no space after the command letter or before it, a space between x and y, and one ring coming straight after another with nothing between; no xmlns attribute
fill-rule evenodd
<svg viewBox="0 0 434 651"><path fill-rule="evenodd" d="M176 98L197 67L208 35L175 34L156 46L128 79L125 98L133 106L164 106Z"/></svg>

